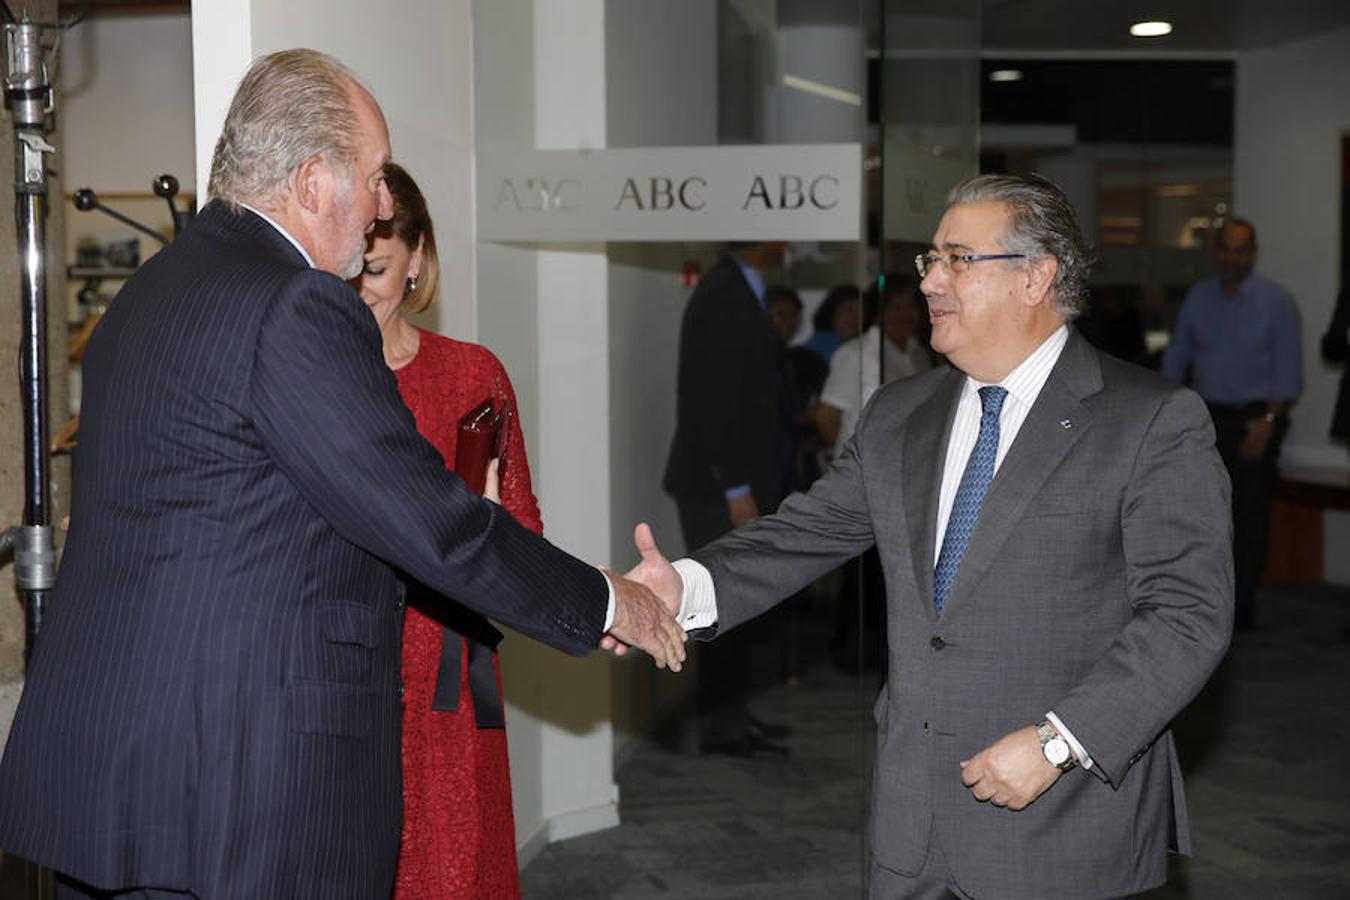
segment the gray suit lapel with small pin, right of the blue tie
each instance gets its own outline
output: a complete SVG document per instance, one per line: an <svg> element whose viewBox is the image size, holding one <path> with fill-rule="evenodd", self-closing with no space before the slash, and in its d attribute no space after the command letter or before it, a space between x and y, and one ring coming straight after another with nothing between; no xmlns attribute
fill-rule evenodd
<svg viewBox="0 0 1350 900"><path fill-rule="evenodd" d="M1083 401L1100 390L1102 368L1096 351L1071 329L1060 360L984 497L980 518L942 609L944 618L950 618L953 611L969 603L967 595L984 578L1003 544L1013 537L1018 521L1064 457L1092 426L1092 413ZM936 515L934 509L934 518ZM929 560L932 559L930 556ZM929 576L932 583L932 571Z"/></svg>

